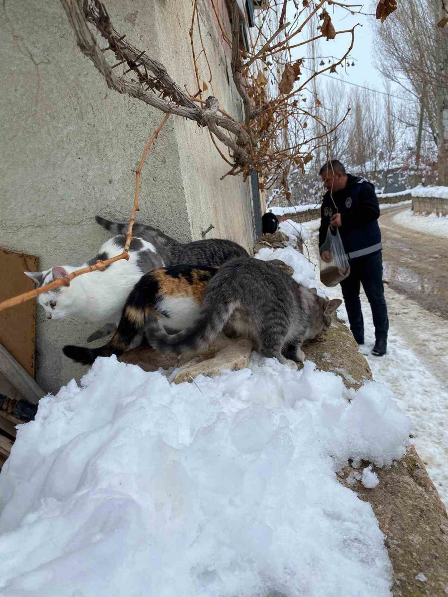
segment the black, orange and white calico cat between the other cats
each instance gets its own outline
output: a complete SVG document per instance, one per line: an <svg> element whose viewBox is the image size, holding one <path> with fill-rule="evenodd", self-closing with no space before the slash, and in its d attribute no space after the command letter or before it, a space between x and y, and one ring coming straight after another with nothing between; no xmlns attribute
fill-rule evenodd
<svg viewBox="0 0 448 597"><path fill-rule="evenodd" d="M174 265L146 273L127 298L118 329L105 346L89 349L65 346L63 352L84 365L97 356L121 355L129 350L148 326L149 320L170 331L193 325L200 312L207 282L218 268Z"/></svg>

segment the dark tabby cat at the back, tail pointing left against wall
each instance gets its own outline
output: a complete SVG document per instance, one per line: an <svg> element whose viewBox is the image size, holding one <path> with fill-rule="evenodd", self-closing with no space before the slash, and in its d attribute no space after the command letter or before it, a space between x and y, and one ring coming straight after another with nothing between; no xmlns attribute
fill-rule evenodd
<svg viewBox="0 0 448 597"><path fill-rule="evenodd" d="M100 216L96 216L95 219L100 226L113 234L127 232L128 224L106 220ZM157 228L140 223L134 224L134 233L151 242L167 266L177 263L203 263L220 266L234 257L248 257L248 253L243 247L226 239L210 238L204 241L182 243Z"/></svg>

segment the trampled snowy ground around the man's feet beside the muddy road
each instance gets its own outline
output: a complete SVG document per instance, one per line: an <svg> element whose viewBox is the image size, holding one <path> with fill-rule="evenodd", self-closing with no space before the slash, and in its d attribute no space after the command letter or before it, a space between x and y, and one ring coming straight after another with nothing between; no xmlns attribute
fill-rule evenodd
<svg viewBox="0 0 448 597"><path fill-rule="evenodd" d="M319 222L314 220L303 226L309 235L312 260L318 264L315 235ZM330 298L342 298L339 285L324 290ZM375 330L369 302L361 291L366 344L360 350L374 379L392 389L398 406L412 418L412 441L448 506L448 323L387 285L386 301L391 323L388 353L378 358L370 354ZM346 321L343 305L337 313Z"/></svg>

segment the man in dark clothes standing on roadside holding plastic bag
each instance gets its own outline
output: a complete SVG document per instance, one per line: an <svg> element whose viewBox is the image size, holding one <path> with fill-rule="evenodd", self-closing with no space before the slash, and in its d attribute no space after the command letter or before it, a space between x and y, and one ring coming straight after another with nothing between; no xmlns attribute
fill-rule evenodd
<svg viewBox="0 0 448 597"><path fill-rule="evenodd" d="M331 223L339 229L343 247L350 261L350 274L340 282L348 321L358 344L364 344L364 320L361 311L360 285L372 308L375 346L372 355L387 351L389 319L383 288L381 231L378 226L379 205L373 184L345 172L333 159L324 164L319 175L327 192L321 207L319 247L322 247ZM328 251L321 253L330 260Z"/></svg>

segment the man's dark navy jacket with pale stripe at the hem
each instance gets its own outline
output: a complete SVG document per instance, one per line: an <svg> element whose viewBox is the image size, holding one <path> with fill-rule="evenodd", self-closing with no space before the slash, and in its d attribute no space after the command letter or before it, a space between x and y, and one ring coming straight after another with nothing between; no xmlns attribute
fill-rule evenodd
<svg viewBox="0 0 448 597"><path fill-rule="evenodd" d="M347 186L333 192L333 204L330 192L324 195L321 206L319 229L319 247L326 239L332 216L340 213L342 226L338 228L345 253L350 259L376 253L382 248L381 232L378 226L379 205L373 184L359 177L348 174Z"/></svg>

